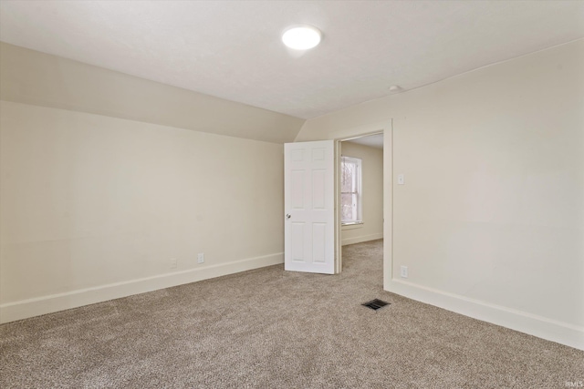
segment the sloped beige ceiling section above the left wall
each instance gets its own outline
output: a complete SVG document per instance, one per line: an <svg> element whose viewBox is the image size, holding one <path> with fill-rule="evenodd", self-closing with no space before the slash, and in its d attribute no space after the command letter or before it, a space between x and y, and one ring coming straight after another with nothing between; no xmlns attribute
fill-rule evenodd
<svg viewBox="0 0 584 389"><path fill-rule="evenodd" d="M0 98L274 143L305 121L5 43Z"/></svg>

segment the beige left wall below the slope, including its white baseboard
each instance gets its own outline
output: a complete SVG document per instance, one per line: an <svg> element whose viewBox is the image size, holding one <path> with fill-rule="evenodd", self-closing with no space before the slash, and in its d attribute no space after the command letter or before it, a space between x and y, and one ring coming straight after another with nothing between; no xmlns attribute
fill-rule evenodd
<svg viewBox="0 0 584 389"><path fill-rule="evenodd" d="M2 321L283 261L282 145L0 111Z"/></svg>

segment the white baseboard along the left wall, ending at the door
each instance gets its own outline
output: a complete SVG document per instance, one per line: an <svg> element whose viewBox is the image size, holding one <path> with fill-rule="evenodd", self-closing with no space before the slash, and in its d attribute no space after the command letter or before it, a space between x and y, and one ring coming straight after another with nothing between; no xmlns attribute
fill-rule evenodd
<svg viewBox="0 0 584 389"><path fill-rule="evenodd" d="M203 266L186 271L175 271L152 277L116 282L73 292L58 293L19 302L0 305L0 323L15 322L41 314L64 311L96 302L107 302L133 294L152 292L184 283L208 280L240 271L249 271L265 266L284 263L284 253L231 261L218 265Z"/></svg>

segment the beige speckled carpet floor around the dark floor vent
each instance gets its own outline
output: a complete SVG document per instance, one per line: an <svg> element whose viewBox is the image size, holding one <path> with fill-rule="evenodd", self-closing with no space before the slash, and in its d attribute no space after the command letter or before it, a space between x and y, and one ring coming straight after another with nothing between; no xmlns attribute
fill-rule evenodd
<svg viewBox="0 0 584 389"><path fill-rule="evenodd" d="M382 241L337 276L283 266L0 326L2 388L564 388L584 352L382 290ZM379 311L361 306L380 298Z"/></svg>

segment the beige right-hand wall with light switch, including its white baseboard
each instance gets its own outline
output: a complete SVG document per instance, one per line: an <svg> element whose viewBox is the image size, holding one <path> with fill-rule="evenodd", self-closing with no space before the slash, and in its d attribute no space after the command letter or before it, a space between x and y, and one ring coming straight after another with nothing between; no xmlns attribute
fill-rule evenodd
<svg viewBox="0 0 584 389"><path fill-rule="evenodd" d="M584 348L584 40L308 120L297 141L390 118L385 288Z"/></svg>

